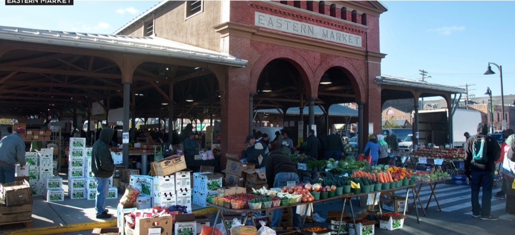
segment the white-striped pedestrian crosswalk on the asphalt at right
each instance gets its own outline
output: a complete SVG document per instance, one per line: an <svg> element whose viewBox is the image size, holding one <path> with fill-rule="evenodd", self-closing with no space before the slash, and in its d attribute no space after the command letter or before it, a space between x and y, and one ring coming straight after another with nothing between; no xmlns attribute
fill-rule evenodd
<svg viewBox="0 0 515 235"><path fill-rule="evenodd" d="M418 186L417 186L418 189ZM495 216L499 216L501 220L515 221L515 215L508 214L505 211L506 200L499 200L493 195L499 191L499 188L494 188L492 190L492 206L491 213ZM406 191L397 191L396 195L405 195ZM445 185L438 184L435 189L436 196L438 198L438 203L442 211L445 212L453 212L459 214L472 215L472 206L470 203L470 185ZM411 193L409 194L411 196ZM481 202L481 196L483 195L482 191L479 191L479 203ZM428 185L423 185L421 191L419 193L420 200L422 201L422 205L426 206L427 200L431 196L431 189ZM413 202L413 201L410 201ZM431 198L431 203L427 208L427 211L438 211L438 206L434 200L434 197Z"/></svg>

